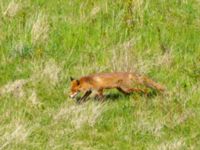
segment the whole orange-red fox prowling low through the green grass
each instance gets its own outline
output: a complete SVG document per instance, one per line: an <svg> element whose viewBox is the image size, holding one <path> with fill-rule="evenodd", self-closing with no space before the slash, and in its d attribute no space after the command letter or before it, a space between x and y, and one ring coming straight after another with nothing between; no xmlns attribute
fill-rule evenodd
<svg viewBox="0 0 200 150"><path fill-rule="evenodd" d="M116 88L120 92L130 94L132 92L144 92L147 88L164 91L165 88L153 80L131 72L97 73L71 79L71 98L75 98L79 92L84 92L81 101L84 101L92 91L97 91L99 98L103 97L104 89ZM135 88L133 88L133 86Z"/></svg>

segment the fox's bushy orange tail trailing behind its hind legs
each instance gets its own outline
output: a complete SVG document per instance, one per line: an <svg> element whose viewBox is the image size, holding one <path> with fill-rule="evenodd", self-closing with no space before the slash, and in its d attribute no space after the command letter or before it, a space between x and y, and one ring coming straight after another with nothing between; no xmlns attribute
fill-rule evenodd
<svg viewBox="0 0 200 150"><path fill-rule="evenodd" d="M158 91L165 91L165 87L160 85L159 83L156 83L155 81L147 78L147 77L143 77L143 83L150 88L156 89Z"/></svg>

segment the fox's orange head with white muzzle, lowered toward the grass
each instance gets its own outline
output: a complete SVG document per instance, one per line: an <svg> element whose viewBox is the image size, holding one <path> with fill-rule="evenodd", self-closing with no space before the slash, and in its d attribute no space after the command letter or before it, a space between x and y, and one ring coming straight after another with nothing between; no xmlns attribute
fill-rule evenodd
<svg viewBox="0 0 200 150"><path fill-rule="evenodd" d="M80 81L70 77L71 80L71 93L70 97L75 98L80 92Z"/></svg>

